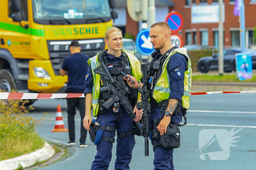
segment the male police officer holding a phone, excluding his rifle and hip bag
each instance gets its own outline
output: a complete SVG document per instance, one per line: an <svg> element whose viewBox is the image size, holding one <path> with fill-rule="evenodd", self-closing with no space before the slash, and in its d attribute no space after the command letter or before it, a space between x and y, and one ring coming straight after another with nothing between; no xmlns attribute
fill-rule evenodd
<svg viewBox="0 0 256 170"><path fill-rule="evenodd" d="M148 90L150 90L151 101L150 129L154 128L154 120L161 116L162 107L167 105L162 114L162 120L157 126L160 135L163 135L171 119L179 124L182 111L189 107L191 62L184 48L172 46L171 31L166 22L151 25L149 36L156 50L151 55L153 60L148 66L148 83L150 84ZM159 67L156 67L157 63ZM135 80L132 76L129 77ZM127 82L131 87L139 87L139 83L132 83L130 80ZM180 109L176 110L176 107L181 104L183 109L179 107ZM155 170L173 170L173 148L163 148L158 145L158 141L154 143Z"/></svg>

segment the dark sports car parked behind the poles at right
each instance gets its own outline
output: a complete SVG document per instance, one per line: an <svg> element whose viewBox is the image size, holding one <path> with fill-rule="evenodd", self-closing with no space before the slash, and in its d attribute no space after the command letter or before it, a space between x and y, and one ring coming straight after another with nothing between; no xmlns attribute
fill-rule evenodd
<svg viewBox="0 0 256 170"><path fill-rule="evenodd" d="M224 59L224 71L231 72L236 71L236 59L235 54L240 53L241 48L228 48L223 50ZM252 55L252 68L256 69L256 51L251 49L245 49L245 52L250 52ZM202 57L197 61L197 70L200 72L216 71L218 70L218 56L219 53L215 53L209 57Z"/></svg>

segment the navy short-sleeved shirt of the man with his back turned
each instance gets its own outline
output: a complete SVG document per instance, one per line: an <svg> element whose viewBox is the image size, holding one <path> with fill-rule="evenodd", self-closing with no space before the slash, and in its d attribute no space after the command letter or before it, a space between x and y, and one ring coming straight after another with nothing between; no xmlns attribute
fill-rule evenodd
<svg viewBox="0 0 256 170"><path fill-rule="evenodd" d="M68 71L68 84L66 92L77 92L85 90L85 76L88 70L89 56L80 52L64 58L62 70Z"/></svg>

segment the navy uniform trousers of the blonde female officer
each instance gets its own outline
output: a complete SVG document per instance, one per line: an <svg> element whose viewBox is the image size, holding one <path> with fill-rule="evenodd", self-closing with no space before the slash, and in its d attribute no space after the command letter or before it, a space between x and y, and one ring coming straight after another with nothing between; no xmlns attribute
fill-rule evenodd
<svg viewBox="0 0 256 170"><path fill-rule="evenodd" d="M133 121L125 111L124 107L119 108L117 116L114 115L113 108L109 108L105 114L98 115L98 121L102 126L114 126L117 133L126 133L132 130ZM103 131L103 137L115 137L116 133L113 131ZM135 145L134 135L129 135L126 138L117 138L116 146L116 163L115 170L129 170L129 164L132 159L132 150ZM91 166L91 170L107 170L112 158L113 143L101 141L97 145L97 154Z"/></svg>

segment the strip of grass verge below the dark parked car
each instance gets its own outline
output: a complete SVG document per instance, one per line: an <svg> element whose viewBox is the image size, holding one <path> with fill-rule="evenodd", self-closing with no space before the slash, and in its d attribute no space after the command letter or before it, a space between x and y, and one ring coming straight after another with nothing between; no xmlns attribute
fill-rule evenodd
<svg viewBox="0 0 256 170"><path fill-rule="evenodd" d="M236 79L236 75L208 75L208 74L198 74L192 75L193 82L241 82L241 83L255 83L256 82L256 75L252 75L251 79L242 80Z"/></svg>

